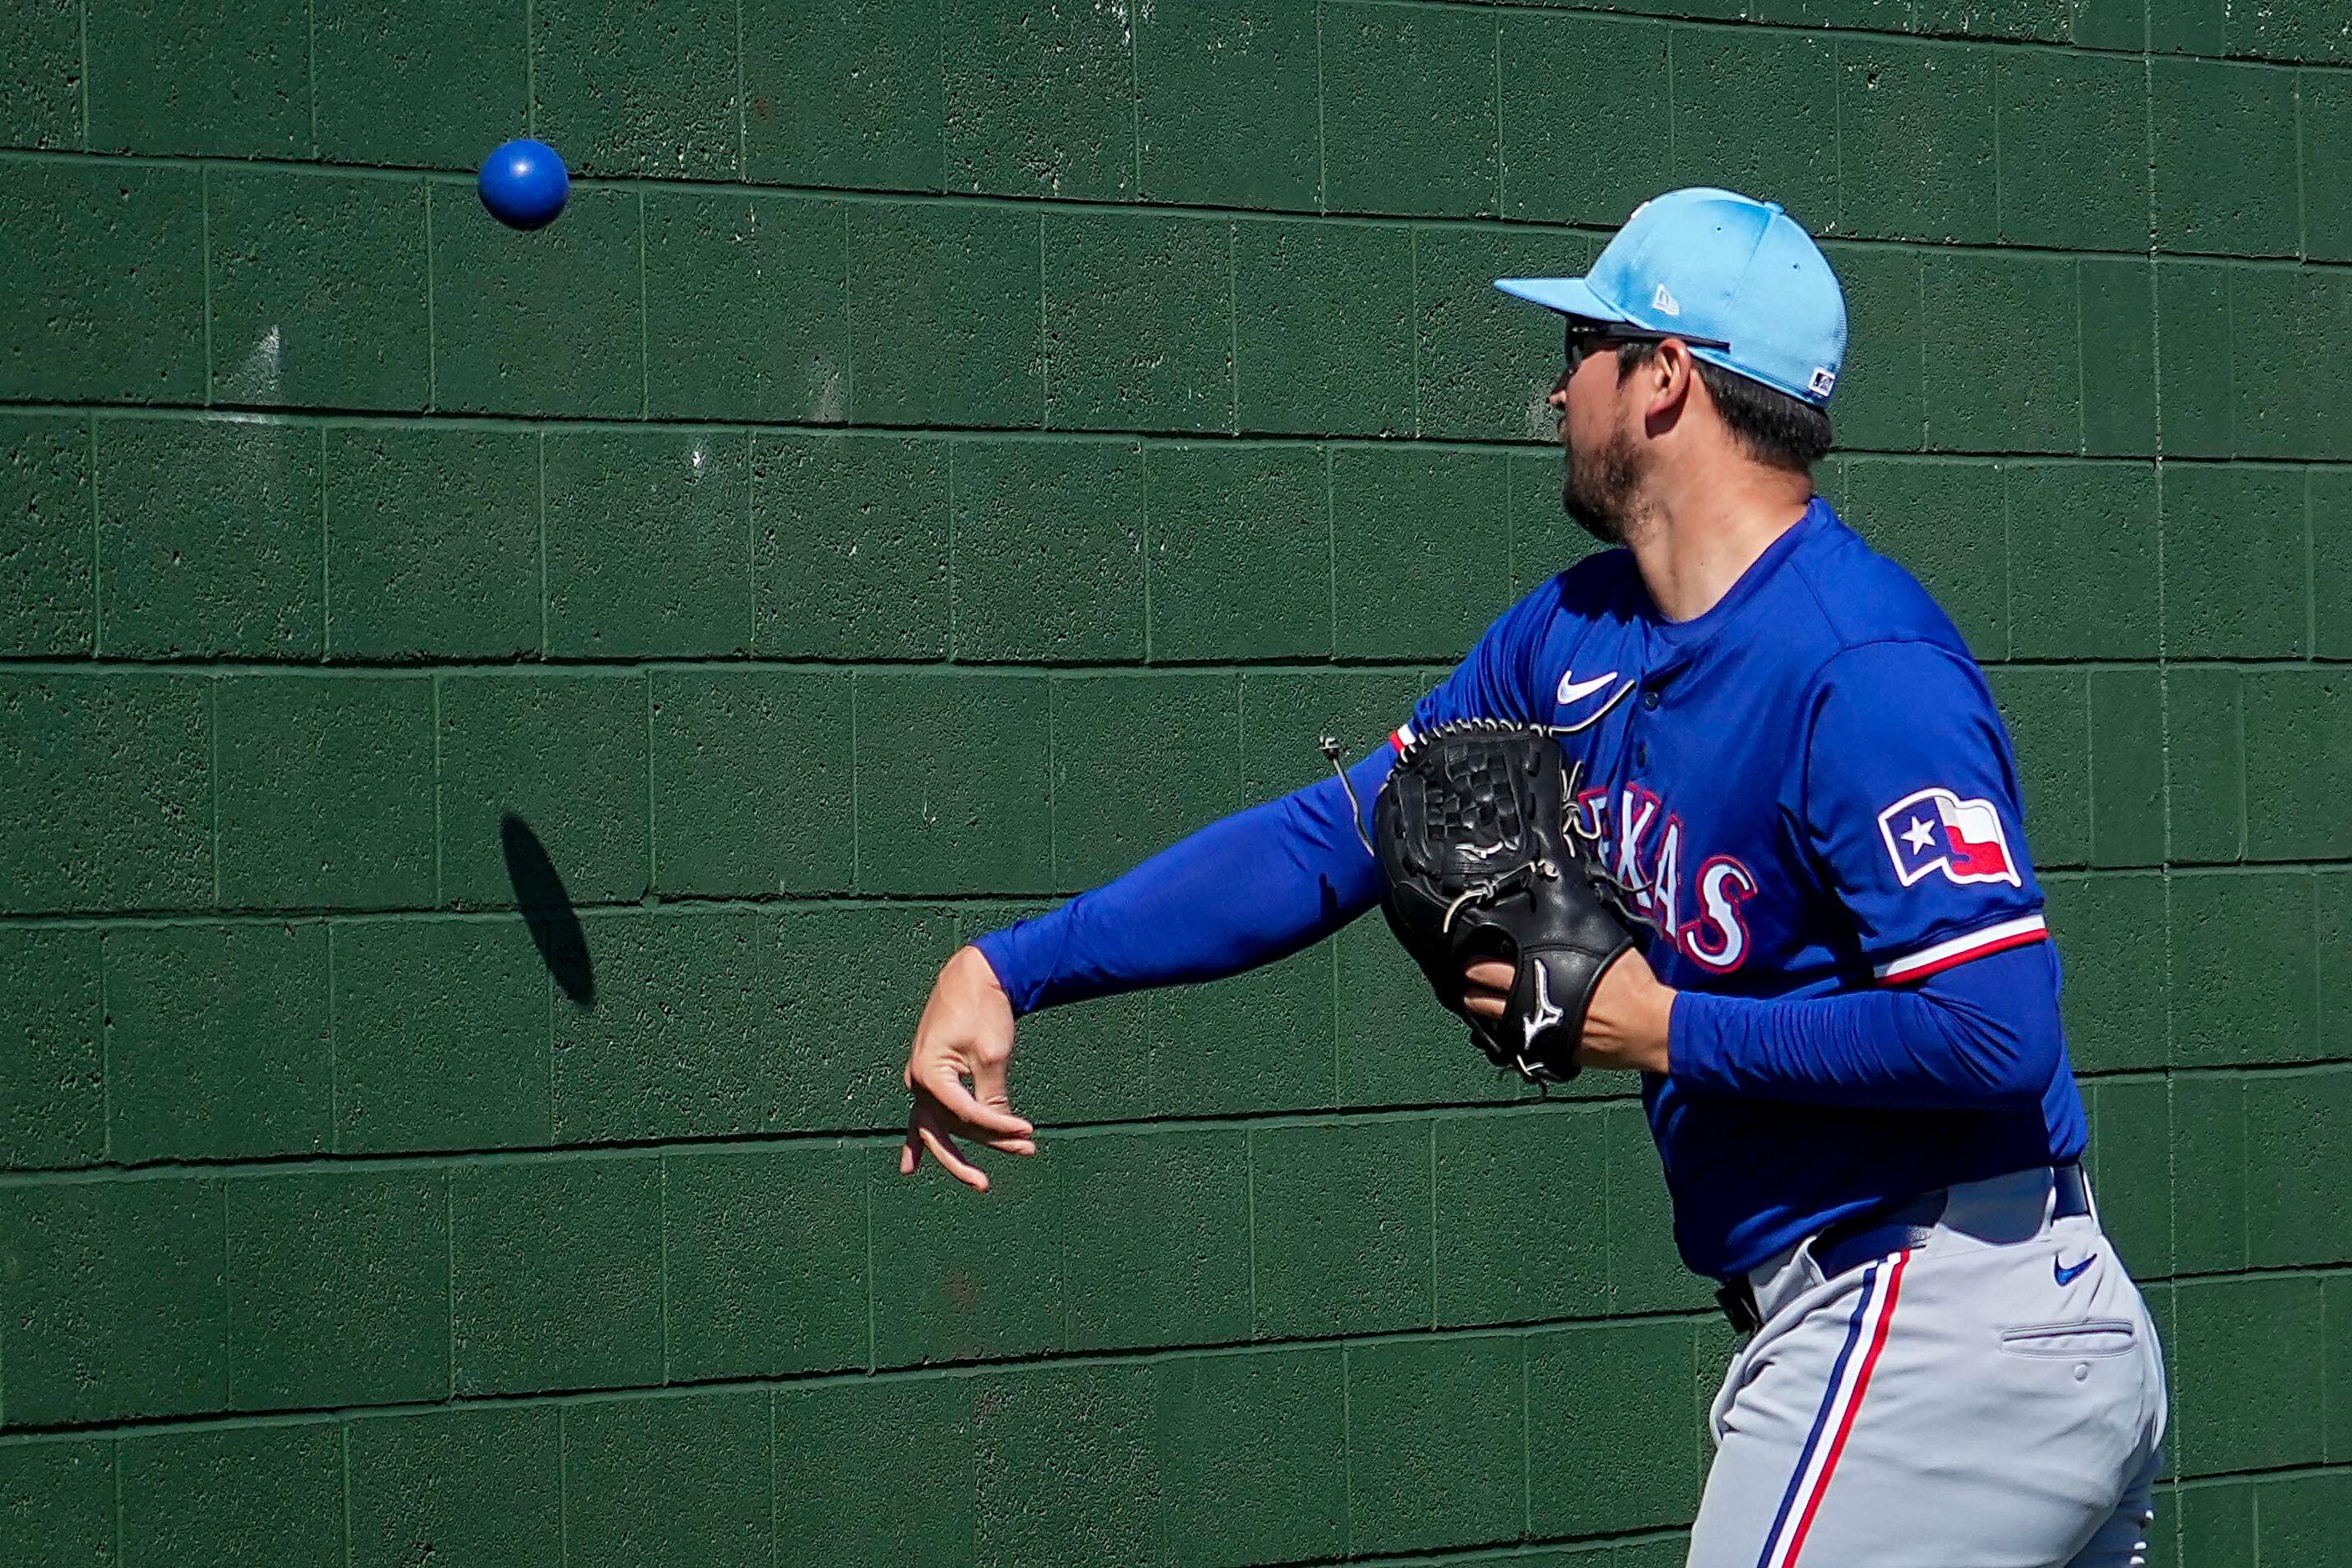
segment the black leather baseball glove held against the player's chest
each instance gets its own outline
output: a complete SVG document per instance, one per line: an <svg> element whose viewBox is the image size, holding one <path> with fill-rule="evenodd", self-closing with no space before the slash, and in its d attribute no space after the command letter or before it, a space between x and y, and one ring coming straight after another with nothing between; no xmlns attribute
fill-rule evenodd
<svg viewBox="0 0 2352 1568"><path fill-rule="evenodd" d="M1555 731L1463 719L1414 736L1374 799L1371 851L1388 929L1477 1048L1536 1084L1573 1079L1602 971L1649 922L1583 832ZM1465 1006L1472 959L1517 969L1501 1018Z"/></svg>

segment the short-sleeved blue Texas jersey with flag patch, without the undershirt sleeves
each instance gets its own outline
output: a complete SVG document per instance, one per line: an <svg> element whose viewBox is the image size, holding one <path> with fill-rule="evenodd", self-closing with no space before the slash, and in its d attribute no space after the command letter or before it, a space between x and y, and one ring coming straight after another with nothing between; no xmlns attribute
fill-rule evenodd
<svg viewBox="0 0 2352 1568"><path fill-rule="evenodd" d="M1750 1267L1825 1218L2074 1159L2063 1046L2039 1100L1757 1098L1710 997L1828 997L2037 947L2056 990L2016 762L1973 658L1919 583L1823 501L1708 614L1665 621L1632 555L1510 607L1395 736L1446 719L1576 726L1578 806L1684 992L1644 1103L1684 1258ZM1987 966L1990 971L1992 966ZM2053 999L2051 999L2053 1006Z"/></svg>

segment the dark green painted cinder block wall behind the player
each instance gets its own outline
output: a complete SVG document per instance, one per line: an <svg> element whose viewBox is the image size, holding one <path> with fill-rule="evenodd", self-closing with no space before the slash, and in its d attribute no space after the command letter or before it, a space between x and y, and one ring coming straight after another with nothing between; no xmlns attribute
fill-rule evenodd
<svg viewBox="0 0 2352 1568"><path fill-rule="evenodd" d="M1992 672L2157 1563L2352 1563L2352 5L21 0L0 1563L1679 1563L1731 1340L1623 1081L1378 922L936 964L1376 741L1583 543L1646 195L1856 315L1823 489ZM541 233L473 169L572 162Z"/></svg>

